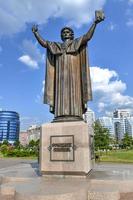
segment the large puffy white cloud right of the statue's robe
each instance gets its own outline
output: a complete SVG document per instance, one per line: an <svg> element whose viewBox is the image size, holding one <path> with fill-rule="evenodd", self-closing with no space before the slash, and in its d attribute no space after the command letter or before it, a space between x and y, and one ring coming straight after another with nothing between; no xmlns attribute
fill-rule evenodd
<svg viewBox="0 0 133 200"><path fill-rule="evenodd" d="M125 95L126 84L114 70L91 67L93 101L99 112L122 107L133 109L133 97Z"/></svg>

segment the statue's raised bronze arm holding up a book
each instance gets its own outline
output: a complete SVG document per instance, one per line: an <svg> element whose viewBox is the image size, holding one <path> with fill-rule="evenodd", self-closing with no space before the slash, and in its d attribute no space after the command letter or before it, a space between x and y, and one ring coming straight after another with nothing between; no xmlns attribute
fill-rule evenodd
<svg viewBox="0 0 133 200"><path fill-rule="evenodd" d="M92 26L90 27L90 29L88 30L88 32L83 36L82 39L82 44L87 43L89 40L91 40L91 38L93 37L93 34L95 32L96 26L98 23L100 23L101 21L104 20L104 13L101 11L96 11L96 13L98 13L98 16L96 16L95 21L93 22ZM100 13L100 15L99 15Z"/></svg>

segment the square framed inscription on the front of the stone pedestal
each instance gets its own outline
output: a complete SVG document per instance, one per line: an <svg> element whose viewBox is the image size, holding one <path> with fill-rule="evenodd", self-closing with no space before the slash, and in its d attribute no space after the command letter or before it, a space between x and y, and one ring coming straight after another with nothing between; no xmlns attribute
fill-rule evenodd
<svg viewBox="0 0 133 200"><path fill-rule="evenodd" d="M74 136L51 136L49 151L50 161L74 161Z"/></svg>

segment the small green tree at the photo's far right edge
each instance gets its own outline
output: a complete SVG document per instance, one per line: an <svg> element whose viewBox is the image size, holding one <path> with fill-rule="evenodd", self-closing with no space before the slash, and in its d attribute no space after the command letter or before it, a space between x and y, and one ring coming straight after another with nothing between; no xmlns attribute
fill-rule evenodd
<svg viewBox="0 0 133 200"><path fill-rule="evenodd" d="M133 140L132 137L128 135L128 133L125 133L123 139L122 139L122 147L124 149L132 148Z"/></svg>

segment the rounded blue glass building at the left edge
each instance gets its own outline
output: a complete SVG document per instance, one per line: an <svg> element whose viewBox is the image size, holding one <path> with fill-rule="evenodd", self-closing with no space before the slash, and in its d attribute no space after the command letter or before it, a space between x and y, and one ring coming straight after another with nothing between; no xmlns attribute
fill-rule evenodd
<svg viewBox="0 0 133 200"><path fill-rule="evenodd" d="M14 111L0 111L0 142L14 143L19 139L19 114Z"/></svg>

